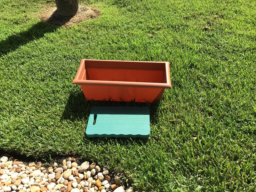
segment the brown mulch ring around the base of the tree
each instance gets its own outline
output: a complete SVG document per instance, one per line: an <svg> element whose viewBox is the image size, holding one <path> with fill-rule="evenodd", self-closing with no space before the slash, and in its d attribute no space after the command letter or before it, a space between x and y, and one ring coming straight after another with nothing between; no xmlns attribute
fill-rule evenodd
<svg viewBox="0 0 256 192"><path fill-rule="evenodd" d="M61 26L61 25L70 26L70 25L78 24L88 19L95 19L99 16L100 16L100 11L98 8L85 7L80 5L76 15L74 16L68 16L68 17L60 16L57 14L56 7L50 7L39 14L39 18L42 21L48 22L53 25L58 25L58 26Z"/></svg>

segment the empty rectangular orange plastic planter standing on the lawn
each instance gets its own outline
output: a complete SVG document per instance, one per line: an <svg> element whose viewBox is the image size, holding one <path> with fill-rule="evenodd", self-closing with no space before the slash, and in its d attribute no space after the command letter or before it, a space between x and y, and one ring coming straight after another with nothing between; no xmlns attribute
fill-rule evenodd
<svg viewBox="0 0 256 192"><path fill-rule="evenodd" d="M172 88L169 62L82 59L73 84L87 100L160 101Z"/></svg>

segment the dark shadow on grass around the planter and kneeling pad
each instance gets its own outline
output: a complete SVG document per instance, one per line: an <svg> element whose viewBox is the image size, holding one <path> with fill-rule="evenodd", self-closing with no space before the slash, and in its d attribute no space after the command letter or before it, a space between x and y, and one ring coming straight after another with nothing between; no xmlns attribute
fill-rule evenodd
<svg viewBox="0 0 256 192"><path fill-rule="evenodd" d="M159 107L159 102L154 103L142 103L142 102L124 102L124 101L94 101L94 100L86 100L83 92L71 92L65 109L62 113L61 120L70 120L75 122L77 120L88 121L90 116L90 112L92 107L94 106L108 106L108 107L148 107L149 108L149 116L150 123L157 124L158 122L158 113L157 109ZM85 136L85 139L97 142L99 138L88 138ZM107 143L109 140L113 140L113 138L100 138L101 142ZM145 143L148 141L148 138L114 138L114 140L118 141L119 144L125 145L129 140L135 141L136 143Z"/></svg>

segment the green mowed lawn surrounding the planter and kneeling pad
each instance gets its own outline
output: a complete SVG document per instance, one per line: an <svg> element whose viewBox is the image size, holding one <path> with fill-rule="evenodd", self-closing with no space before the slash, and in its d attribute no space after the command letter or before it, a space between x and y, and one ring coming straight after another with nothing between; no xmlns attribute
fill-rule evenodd
<svg viewBox="0 0 256 192"><path fill-rule="evenodd" d="M79 155L137 191L256 190L256 1L88 0L70 27L54 1L0 0L0 149ZM173 89L150 107L149 139L88 139L92 106L72 85L81 59L169 61Z"/></svg>

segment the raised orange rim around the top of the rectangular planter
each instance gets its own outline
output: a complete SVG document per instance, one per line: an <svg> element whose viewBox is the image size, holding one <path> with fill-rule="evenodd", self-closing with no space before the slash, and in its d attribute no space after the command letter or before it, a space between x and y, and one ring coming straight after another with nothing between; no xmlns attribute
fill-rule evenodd
<svg viewBox="0 0 256 192"><path fill-rule="evenodd" d="M81 80L78 79L82 68L85 65L86 60L91 59L82 59L76 77L73 80L72 84L79 85L108 85L108 86L128 86L128 87L152 87L152 88L172 88L170 81L170 63L169 62L159 62L159 61L125 61L125 62L138 62L138 63L164 63L166 71L166 82L167 83L148 83L148 82L130 82L130 81L100 81L100 80ZM120 60L93 60L93 61L111 61L111 62L120 62ZM122 61L124 62L124 61Z"/></svg>

